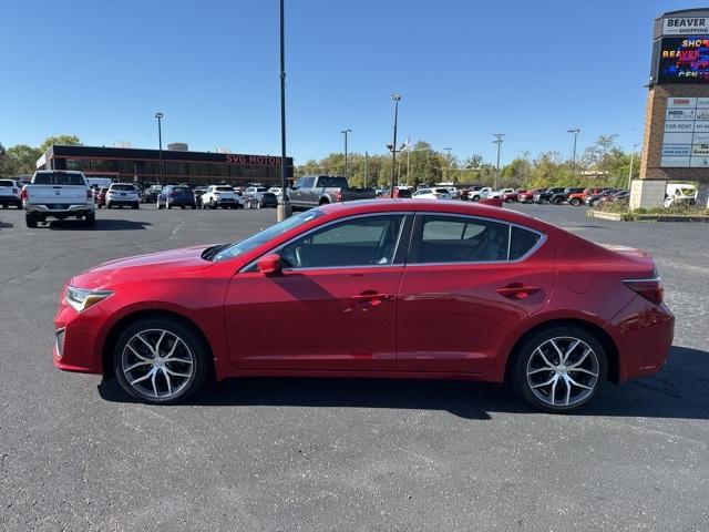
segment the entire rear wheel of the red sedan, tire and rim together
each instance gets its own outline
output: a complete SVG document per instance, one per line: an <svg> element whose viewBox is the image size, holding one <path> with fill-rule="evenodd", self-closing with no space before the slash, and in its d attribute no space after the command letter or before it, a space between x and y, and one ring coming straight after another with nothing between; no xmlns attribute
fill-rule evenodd
<svg viewBox="0 0 709 532"><path fill-rule="evenodd" d="M534 334L516 349L511 364L517 393L534 408L551 413L586 406L608 371L602 342L576 326L549 327Z"/></svg>

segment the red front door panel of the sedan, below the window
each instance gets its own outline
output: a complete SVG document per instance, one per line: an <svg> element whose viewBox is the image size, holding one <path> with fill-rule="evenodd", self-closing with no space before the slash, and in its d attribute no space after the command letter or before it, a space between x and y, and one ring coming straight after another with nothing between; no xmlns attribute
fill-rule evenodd
<svg viewBox="0 0 709 532"><path fill-rule="evenodd" d="M402 266L238 274L226 296L233 366L243 369L395 369Z"/></svg>

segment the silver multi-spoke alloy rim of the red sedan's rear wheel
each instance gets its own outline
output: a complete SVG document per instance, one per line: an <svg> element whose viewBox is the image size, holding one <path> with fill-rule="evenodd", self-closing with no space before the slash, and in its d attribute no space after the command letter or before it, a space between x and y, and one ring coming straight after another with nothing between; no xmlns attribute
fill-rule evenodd
<svg viewBox="0 0 709 532"><path fill-rule="evenodd" d="M579 338L563 336L542 342L526 365L530 390L551 407L573 407L598 386L600 365L594 349Z"/></svg>

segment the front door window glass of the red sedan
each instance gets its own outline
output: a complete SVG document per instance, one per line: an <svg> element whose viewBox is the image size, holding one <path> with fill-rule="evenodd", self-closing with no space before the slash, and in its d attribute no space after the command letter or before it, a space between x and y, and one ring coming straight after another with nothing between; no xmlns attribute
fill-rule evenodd
<svg viewBox="0 0 709 532"><path fill-rule="evenodd" d="M280 256L292 268L390 265L402 225L403 215L346 219L287 244Z"/></svg>

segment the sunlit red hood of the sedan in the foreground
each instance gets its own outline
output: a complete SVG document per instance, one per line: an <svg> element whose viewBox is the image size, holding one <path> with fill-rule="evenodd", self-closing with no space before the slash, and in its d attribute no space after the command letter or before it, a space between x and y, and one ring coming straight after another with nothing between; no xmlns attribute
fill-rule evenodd
<svg viewBox="0 0 709 532"><path fill-rule="evenodd" d="M78 275L71 283L82 288L101 288L126 280L174 276L208 268L214 263L202 258L207 247L185 247L110 260Z"/></svg>

